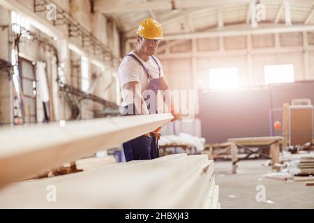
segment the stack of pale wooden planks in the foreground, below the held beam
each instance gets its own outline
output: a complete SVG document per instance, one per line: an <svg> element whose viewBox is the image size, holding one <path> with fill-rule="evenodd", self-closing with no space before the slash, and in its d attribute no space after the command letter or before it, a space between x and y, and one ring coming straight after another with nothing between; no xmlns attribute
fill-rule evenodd
<svg viewBox="0 0 314 223"><path fill-rule="evenodd" d="M57 202L47 201L51 185ZM14 183L0 208L220 208L218 193L207 155L177 154Z"/></svg>

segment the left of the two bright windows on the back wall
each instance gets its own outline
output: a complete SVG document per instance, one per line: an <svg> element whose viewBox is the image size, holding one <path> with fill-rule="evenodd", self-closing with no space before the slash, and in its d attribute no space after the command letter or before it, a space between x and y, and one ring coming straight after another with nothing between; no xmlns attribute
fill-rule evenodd
<svg viewBox="0 0 314 223"><path fill-rule="evenodd" d="M236 89L239 86L237 68L209 69L210 89Z"/></svg>

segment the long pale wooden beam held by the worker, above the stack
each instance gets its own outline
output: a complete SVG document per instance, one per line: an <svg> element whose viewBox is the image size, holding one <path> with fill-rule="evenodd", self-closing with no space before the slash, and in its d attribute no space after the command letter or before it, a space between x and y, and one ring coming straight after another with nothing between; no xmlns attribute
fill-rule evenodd
<svg viewBox="0 0 314 223"><path fill-rule="evenodd" d="M1 129L0 187L114 148L171 119L172 114L154 114Z"/></svg>

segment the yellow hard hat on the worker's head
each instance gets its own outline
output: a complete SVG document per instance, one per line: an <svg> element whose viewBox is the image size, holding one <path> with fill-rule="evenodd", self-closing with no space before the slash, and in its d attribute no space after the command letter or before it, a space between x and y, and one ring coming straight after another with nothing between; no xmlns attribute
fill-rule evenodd
<svg viewBox="0 0 314 223"><path fill-rule="evenodd" d="M163 38L163 29L156 20L147 18L140 23L137 35L149 40L160 40Z"/></svg>

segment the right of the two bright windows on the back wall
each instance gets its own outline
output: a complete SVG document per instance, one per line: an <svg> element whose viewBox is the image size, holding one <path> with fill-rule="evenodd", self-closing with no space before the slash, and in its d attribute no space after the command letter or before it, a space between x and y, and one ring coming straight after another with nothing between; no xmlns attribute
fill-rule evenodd
<svg viewBox="0 0 314 223"><path fill-rule="evenodd" d="M294 67L292 64L264 66L265 84L294 82Z"/></svg>

